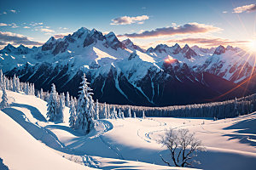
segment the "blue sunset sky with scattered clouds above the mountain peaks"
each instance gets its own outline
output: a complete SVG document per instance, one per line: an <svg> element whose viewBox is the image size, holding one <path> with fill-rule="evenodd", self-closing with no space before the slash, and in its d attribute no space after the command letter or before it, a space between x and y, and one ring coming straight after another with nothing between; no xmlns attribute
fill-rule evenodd
<svg viewBox="0 0 256 170"><path fill-rule="evenodd" d="M0 48L38 46L80 27L113 31L142 48L247 47L256 42L256 0L0 0Z"/></svg>

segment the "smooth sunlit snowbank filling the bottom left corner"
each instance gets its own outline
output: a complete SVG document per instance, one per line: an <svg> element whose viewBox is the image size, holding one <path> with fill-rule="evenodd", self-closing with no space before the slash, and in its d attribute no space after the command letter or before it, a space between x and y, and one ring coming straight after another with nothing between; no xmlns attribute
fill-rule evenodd
<svg viewBox="0 0 256 170"><path fill-rule="evenodd" d="M0 157L9 169L84 169L34 139L3 111L0 111L0 120Z"/></svg>

